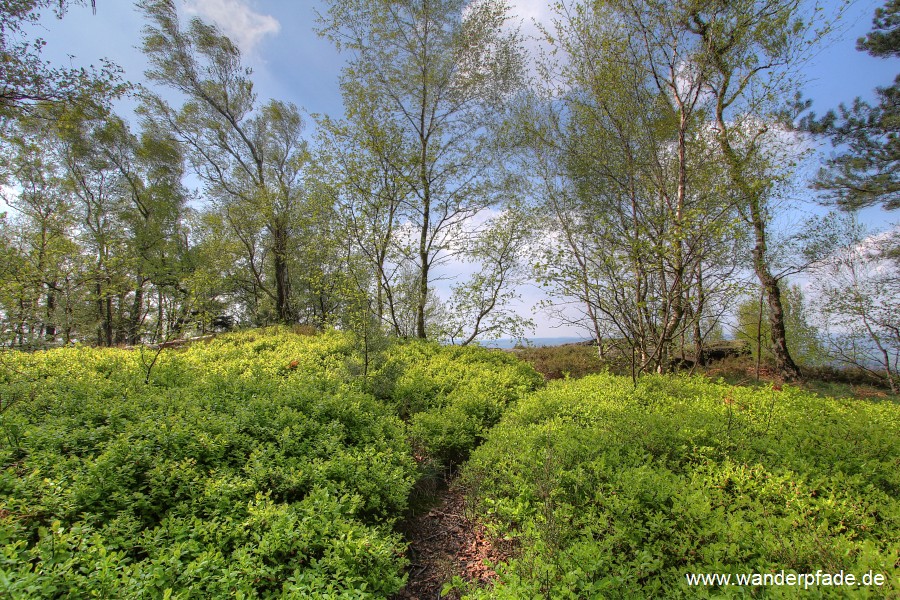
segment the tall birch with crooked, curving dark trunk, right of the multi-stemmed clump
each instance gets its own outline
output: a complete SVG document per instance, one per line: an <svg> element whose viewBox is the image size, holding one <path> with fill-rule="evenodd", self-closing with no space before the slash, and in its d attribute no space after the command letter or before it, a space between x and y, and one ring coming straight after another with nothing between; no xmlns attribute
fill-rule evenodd
<svg viewBox="0 0 900 600"><path fill-rule="evenodd" d="M810 47L809 36L817 35L814 23L801 0L704 0L678 3L674 13L674 22L696 40L703 88L714 98L716 139L753 234L753 269L768 304L776 367L785 379L796 379L800 369L787 346L769 248L775 180L767 144L773 129L788 128L783 107L796 91L795 68Z"/></svg>

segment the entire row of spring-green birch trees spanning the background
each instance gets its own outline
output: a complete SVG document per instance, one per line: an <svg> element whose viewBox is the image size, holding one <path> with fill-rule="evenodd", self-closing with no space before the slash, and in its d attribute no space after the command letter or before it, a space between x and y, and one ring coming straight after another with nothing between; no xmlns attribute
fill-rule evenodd
<svg viewBox="0 0 900 600"><path fill-rule="evenodd" d="M333 0L317 28L347 57L344 112L314 136L173 1L138 3L140 82L49 65L29 27L77 4L0 13L8 347L273 323L366 348L525 337L511 305L537 280L636 373L702 362L737 324L786 379L840 363L897 390L898 236L854 212L898 205L897 82L810 114L804 61L839 19L814 3L564 3L527 56L500 0ZM898 9L860 50L896 57ZM137 118L114 112L125 95ZM784 234L807 136L837 148L812 181L836 210ZM451 261L475 274L442 298Z"/></svg>

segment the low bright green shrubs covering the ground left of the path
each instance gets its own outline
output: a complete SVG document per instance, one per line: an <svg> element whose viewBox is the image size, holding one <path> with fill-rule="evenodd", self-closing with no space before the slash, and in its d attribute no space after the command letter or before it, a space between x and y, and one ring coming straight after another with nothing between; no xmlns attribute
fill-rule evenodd
<svg viewBox="0 0 900 600"><path fill-rule="evenodd" d="M440 447L396 408L425 385L425 412L455 406L444 398L470 369L500 373L485 394L501 404L539 377L487 350L414 342L386 351L376 397L354 352L337 332L229 334L164 351L149 384L147 351L4 354L0 596L395 593L394 525L421 475L410 438Z"/></svg>

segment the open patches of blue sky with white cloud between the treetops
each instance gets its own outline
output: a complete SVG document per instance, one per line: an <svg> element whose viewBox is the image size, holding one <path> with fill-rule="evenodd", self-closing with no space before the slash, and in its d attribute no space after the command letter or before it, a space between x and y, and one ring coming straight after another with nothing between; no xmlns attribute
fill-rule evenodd
<svg viewBox="0 0 900 600"><path fill-rule="evenodd" d="M244 52L246 64L254 70L256 90L261 100L277 98L295 103L308 113L340 116L343 112L338 76L342 57L333 46L314 32L316 10L324 10L318 1L288 0L176 0L185 15L199 15L217 23ZM510 0L512 13L523 20L523 32L534 33L532 20L546 22L549 0ZM888 85L897 74L892 59L878 59L858 52L856 39L871 29L875 8L883 2L856 0L847 5L840 31L806 65L805 96L813 101L819 114L839 103L850 103L856 96L871 98L873 89ZM826 0L825 12L834 14L843 6L840 0ZM142 17L131 2L97 0L97 11L75 7L62 20L46 18L35 35L47 42L45 56L55 64L86 66L108 58L125 71L133 82L143 80L147 68L139 46ZM127 113L129 103L119 110ZM123 114L128 117L128 114ZM312 119L307 119L311 129ZM311 131L310 131L311 134ZM827 147L825 152L830 151ZM884 228L896 215L877 209L868 211L865 220L875 228ZM535 290L523 290L524 306L539 299ZM529 310L523 308L526 316ZM568 335L572 330L553 329L548 320L535 315L538 336Z"/></svg>

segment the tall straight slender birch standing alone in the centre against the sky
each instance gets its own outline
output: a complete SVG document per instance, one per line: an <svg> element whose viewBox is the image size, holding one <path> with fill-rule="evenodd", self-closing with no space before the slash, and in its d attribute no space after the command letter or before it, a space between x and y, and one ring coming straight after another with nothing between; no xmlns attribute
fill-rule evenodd
<svg viewBox="0 0 900 600"><path fill-rule="evenodd" d="M504 30L506 13L502 0L333 0L320 18L322 35L351 54L345 89L365 88L345 101L374 103L402 136L389 160L413 198L421 338L434 268L470 219L503 194L493 134L523 77L519 37Z"/></svg>

